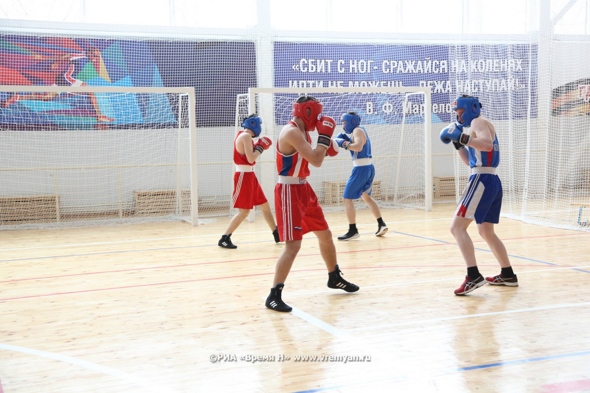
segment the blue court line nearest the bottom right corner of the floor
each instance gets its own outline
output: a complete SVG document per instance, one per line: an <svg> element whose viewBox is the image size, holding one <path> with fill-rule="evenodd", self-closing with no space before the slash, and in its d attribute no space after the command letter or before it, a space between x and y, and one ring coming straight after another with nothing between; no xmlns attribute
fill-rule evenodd
<svg viewBox="0 0 590 393"><path fill-rule="evenodd" d="M507 361L507 362L497 362L497 363L490 363L490 364L482 364L482 365L478 365L478 366L459 367L459 368L445 368L445 369L440 369L438 371L435 371L432 374L429 373L425 377L438 377L440 375L455 374L457 372L471 371L471 370L476 370L476 369L493 368L493 367L501 367L501 366L512 366L512 365L518 365L518 364L527 364L527 363L532 363L532 362L542 362L542 361L547 361L547 360L572 358L574 356L588 356L588 355L590 355L590 351L573 352L571 354L541 356L539 358L529 358L529 359L520 359L520 360ZM355 387L355 386L366 387L367 385L372 385L372 384L375 384L376 382L378 382L378 383L382 383L382 382L399 382L399 381L408 381L409 379L412 379L412 378L410 378L410 377L383 378L383 379L380 379L378 381L377 380L372 380L372 381L366 381L366 382L354 382L354 383L349 384L349 385L339 385L339 386L332 386L332 387L325 387L325 388L317 388L317 389L310 389L310 390L301 390L301 391L296 391L296 392L292 392L292 393L327 392L327 391L330 391L330 390L343 389L343 388L352 388L352 387Z"/></svg>

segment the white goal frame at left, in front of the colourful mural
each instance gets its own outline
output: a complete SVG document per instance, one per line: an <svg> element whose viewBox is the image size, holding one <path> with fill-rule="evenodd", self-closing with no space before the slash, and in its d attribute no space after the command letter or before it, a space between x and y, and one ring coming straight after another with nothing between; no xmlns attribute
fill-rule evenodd
<svg viewBox="0 0 590 393"><path fill-rule="evenodd" d="M175 196L172 195L172 197L170 197L169 199L175 199L175 201L173 202L174 204L176 204L175 208L172 207L172 215L174 215L174 211L176 210L176 216L178 216L179 211L182 209L183 210L183 217L181 218L182 220L185 220L189 223L191 223L193 226L196 226L199 224L199 212L198 212L198 193L197 193L197 145L196 145L196 121L195 121L195 89L192 87L125 87L125 86L121 86L121 87L114 87L114 86L58 86L58 85L52 85L52 86L40 86L40 85L2 85L0 87L0 91L5 92L5 93L70 93L70 94L87 94L90 95L91 93L122 93L122 94L176 94L178 95L178 105L179 105L179 113L178 113L178 141L174 141L174 143L178 143L177 148L181 147L181 128L182 130L184 130L184 133L186 134L186 128L188 128L188 133L189 133L189 143L190 143L190 147L188 148L189 151L189 178L190 178L190 186L189 186L189 193L190 195L187 196L186 195L186 187L184 190L182 190L182 198L181 198L181 189L179 186L179 183L176 182L176 190L172 190L172 194L176 194ZM184 113L182 113L182 121L181 121L181 100L183 100L183 97L188 98L188 105L186 104L182 104L182 107L188 107L188 110ZM26 100L26 98L25 98ZM186 120L185 120L186 119ZM188 124L187 124L188 122ZM182 123L182 124L181 124ZM7 123L5 123L7 124ZM97 130L101 130L101 129L109 129L109 123L103 123L103 124L97 124L97 126L102 125L105 128L97 128ZM0 127L2 125L0 124ZM123 129L123 126L119 126L121 129ZM25 130L26 131L26 130ZM73 130L75 131L75 130ZM81 133L83 132L80 131ZM173 149L173 148L172 148ZM174 167L175 164L174 163L168 163L167 164L169 167ZM176 164L177 166L180 166L180 163ZM183 164L186 166L186 164ZM137 165L136 165L137 166ZM48 170L51 168L41 168L41 170ZM58 168L58 170L67 170L68 168ZM96 169L96 168L93 168ZM15 167L11 167L11 164L8 163L6 166L2 165L0 166L0 171L4 171L4 172L8 172L8 171L27 171L30 170L26 167L19 169L19 168L15 168ZM172 171L172 170L171 170ZM177 170L178 172L178 170ZM179 176L179 175L178 175ZM186 177L185 177L186 179ZM55 223L58 224L58 227L61 227L60 225L60 203L59 203L59 199L60 196L57 194L57 186L56 188L56 192L55 192L55 200L53 200L53 202L56 206L54 207L55 210L57 210L57 220L54 220ZM4 197L6 199L6 194L2 194L2 197ZM18 203L18 199L20 197L13 197L12 199L14 199L16 201L16 203ZM189 202L190 203L190 207L189 209L186 209L186 203ZM119 202L120 203L120 202ZM183 207L181 207L181 204ZM17 207L18 209L18 207ZM122 210L122 209L120 209ZM189 214L187 216L186 214L186 210L189 210ZM119 217L116 217L116 214L114 216L114 219L120 218L122 215L119 214ZM177 217L178 218L178 217ZM158 219L154 219L155 221L158 221ZM166 219L164 219L166 220ZM47 221L47 220L45 220ZM100 225L100 224L109 224L112 223L113 220L112 219L106 219L106 220L96 220L96 222L94 220L89 220L89 222L85 222L85 223L76 223L75 220L73 220L74 222L71 223L71 226L84 226L84 225ZM146 221L152 221L151 219L147 219ZM160 220L161 221L161 220ZM43 222L42 220L40 222ZM122 222L127 222L127 220L123 220ZM131 221L133 222L133 221ZM4 223L5 224L5 223ZM65 224L64 226L68 226L69 224ZM50 224L40 224L40 227L51 227L51 223ZM14 227L14 225L3 225L0 226L0 229L12 229L12 227ZM20 227L20 225L17 225L17 227ZM26 226L24 226L26 227ZM35 225L32 227L36 227Z"/></svg>

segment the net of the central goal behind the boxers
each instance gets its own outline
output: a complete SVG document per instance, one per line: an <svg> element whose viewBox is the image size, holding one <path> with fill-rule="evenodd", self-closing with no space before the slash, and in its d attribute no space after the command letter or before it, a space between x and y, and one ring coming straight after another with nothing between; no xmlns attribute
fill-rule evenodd
<svg viewBox="0 0 590 393"><path fill-rule="evenodd" d="M348 111L360 115L371 140L375 165L372 197L382 207L412 207L430 210L432 206L432 136L430 88L250 88L237 97L236 130L241 120L258 113L263 120L262 133L273 140L255 167L255 173L267 199L274 206L277 183L276 140L291 120L293 102L310 94L323 104L323 115L336 120L342 132L340 116ZM317 132L311 133L316 146ZM352 171L349 151L340 149L335 157L326 157L319 168L310 165L309 183L324 209L342 210L342 193ZM362 202L358 200L356 202Z"/></svg>

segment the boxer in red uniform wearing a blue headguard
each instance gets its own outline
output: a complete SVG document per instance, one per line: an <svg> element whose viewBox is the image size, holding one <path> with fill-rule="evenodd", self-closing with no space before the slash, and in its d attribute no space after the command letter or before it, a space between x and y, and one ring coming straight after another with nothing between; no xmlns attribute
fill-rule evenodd
<svg viewBox="0 0 590 393"><path fill-rule="evenodd" d="M262 120L258 115L251 114L244 118L241 126L244 127L234 140L234 195L232 196L232 206L240 209L237 214L230 220L225 233L219 239L219 247L226 249L235 249L238 246L231 242L231 234L244 221L250 210L254 206L260 206L264 220L273 231L274 241L279 242L277 226L274 223L273 213L270 211L270 205L264 196L258 179L254 174L254 164L256 159L264 150L267 150L273 141L268 137L259 137L262 131ZM252 138L258 138L253 141Z"/></svg>

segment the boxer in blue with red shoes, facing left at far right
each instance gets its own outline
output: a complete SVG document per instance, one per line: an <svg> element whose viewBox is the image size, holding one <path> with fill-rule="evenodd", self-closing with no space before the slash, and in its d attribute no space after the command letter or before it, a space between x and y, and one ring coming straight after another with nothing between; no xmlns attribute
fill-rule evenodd
<svg viewBox="0 0 590 393"><path fill-rule="evenodd" d="M455 295L465 295L480 286L517 286L518 280L510 265L506 247L494 232L494 224L500 219L502 184L496 174L500 162L500 148L496 129L491 121L481 115L477 97L461 95L453 103L457 122L445 127L440 135L443 143L453 143L461 160L471 168L469 182L458 203L451 233L457 241L467 265L467 276ZM465 148L467 147L467 148ZM477 268L475 248L467 227L477 223L480 236L498 260L501 272L484 278Z"/></svg>

